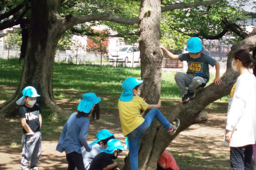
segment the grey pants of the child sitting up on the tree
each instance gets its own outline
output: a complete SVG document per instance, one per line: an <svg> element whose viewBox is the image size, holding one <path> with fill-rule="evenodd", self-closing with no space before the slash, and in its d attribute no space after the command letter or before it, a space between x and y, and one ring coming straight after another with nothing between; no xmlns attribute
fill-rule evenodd
<svg viewBox="0 0 256 170"><path fill-rule="evenodd" d="M207 79L201 76L193 76L184 72L177 72L174 79L182 95L185 95L188 92L187 87L189 90L195 91L200 85L202 85L202 83L207 82Z"/></svg>

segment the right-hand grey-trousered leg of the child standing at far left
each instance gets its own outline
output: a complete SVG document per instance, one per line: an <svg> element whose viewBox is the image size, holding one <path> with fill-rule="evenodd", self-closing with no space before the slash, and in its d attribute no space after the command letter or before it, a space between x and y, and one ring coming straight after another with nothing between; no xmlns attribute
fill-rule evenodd
<svg viewBox="0 0 256 170"><path fill-rule="evenodd" d="M35 147L34 147L34 151L32 153L31 163L30 163L31 168L37 167L37 161L39 160L39 158L41 156L42 138L41 138L41 132L40 131L36 133L34 143L35 143Z"/></svg>

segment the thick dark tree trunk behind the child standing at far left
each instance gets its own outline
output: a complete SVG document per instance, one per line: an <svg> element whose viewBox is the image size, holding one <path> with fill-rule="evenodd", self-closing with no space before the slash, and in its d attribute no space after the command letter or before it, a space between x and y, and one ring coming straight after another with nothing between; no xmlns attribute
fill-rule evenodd
<svg viewBox="0 0 256 170"><path fill-rule="evenodd" d="M43 107L66 113L55 102L53 97L53 64L55 46L60 38L61 19L52 10L53 6L46 0L32 0L31 23L27 52L20 84L11 99L0 105L3 116L18 113L16 100L22 96L22 90L28 85L34 86L38 93L38 102ZM39 10L40 9L40 10Z"/></svg>

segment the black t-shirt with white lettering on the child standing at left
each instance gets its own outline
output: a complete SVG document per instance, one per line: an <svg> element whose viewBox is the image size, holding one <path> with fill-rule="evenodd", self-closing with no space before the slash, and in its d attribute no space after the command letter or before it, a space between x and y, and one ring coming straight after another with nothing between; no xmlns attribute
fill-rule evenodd
<svg viewBox="0 0 256 170"><path fill-rule="evenodd" d="M40 131L39 114L41 109L38 104L34 104L32 108L27 107L25 104L20 107L20 117L25 117L26 122L32 131ZM23 128L23 133L27 131Z"/></svg>

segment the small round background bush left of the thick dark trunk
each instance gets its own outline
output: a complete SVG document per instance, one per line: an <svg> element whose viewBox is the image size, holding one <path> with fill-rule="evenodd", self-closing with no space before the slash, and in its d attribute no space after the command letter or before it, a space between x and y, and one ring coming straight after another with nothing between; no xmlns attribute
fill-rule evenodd
<svg viewBox="0 0 256 170"><path fill-rule="evenodd" d="M22 44L22 36L21 33L7 33L5 35L5 43L8 44L9 47L14 47L16 44L21 47Z"/></svg>

